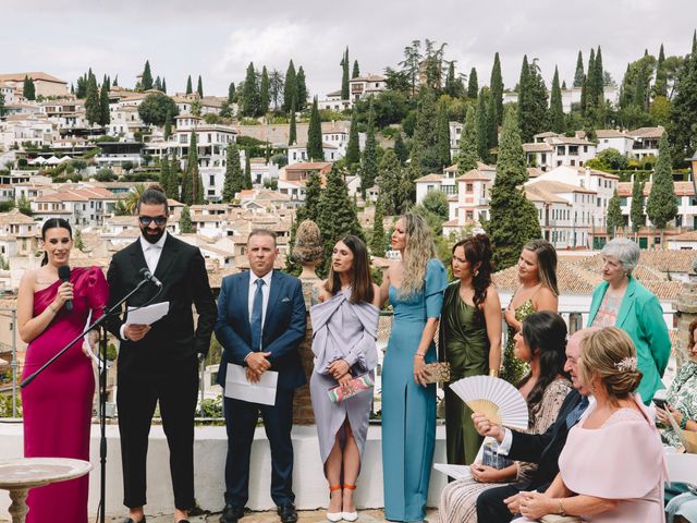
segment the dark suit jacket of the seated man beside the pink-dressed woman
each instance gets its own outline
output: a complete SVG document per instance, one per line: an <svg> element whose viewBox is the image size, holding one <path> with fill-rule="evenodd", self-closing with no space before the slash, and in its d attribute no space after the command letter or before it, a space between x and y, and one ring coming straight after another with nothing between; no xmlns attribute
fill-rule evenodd
<svg viewBox="0 0 697 523"><path fill-rule="evenodd" d="M566 443L568 428L566 416L580 403L582 396L572 390L557 415L557 421L545 434L524 434L513 430L513 442L509 458L513 460L538 463L539 467L523 489L546 489L559 473L559 454Z"/></svg>

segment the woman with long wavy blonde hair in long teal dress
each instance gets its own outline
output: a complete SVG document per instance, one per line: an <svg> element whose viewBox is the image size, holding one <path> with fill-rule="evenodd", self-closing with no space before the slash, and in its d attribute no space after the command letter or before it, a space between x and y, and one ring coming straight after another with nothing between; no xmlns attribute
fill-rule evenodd
<svg viewBox="0 0 697 523"><path fill-rule="evenodd" d="M394 321L382 363L382 474L384 516L423 521L436 445L436 385L426 364L436 361L433 336L448 285L428 226L404 215L394 226L392 248L402 259L382 282Z"/></svg>

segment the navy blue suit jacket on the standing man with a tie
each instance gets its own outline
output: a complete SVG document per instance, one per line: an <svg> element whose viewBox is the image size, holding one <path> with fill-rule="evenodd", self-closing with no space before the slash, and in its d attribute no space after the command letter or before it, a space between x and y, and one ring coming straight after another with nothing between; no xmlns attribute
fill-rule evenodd
<svg viewBox="0 0 697 523"><path fill-rule="evenodd" d="M223 346L218 369L218 384L222 387L225 386L228 364L246 365L244 358L252 351L248 296L248 271L223 278L216 321L216 337ZM270 370L279 373L280 389L294 389L306 381L297 350L305 338L306 327L301 280L274 270L261 332L261 350L271 353Z"/></svg>

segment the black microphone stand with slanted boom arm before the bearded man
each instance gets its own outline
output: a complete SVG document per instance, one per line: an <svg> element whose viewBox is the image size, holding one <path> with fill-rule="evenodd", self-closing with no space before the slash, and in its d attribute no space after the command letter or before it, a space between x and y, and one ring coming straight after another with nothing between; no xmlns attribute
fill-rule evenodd
<svg viewBox="0 0 697 523"><path fill-rule="evenodd" d="M99 488L99 522L106 522L106 497L107 497L107 318L121 313L121 305L135 294L143 285L149 283L148 278L144 278L130 293L121 299L111 308L103 307L105 314L97 318L91 325L85 328L83 332L73 341L68 343L63 349L57 352L48 362L41 365L34 374L27 376L20 384L21 388L30 385L39 374L48 368L56 360L62 356L71 346L78 342L82 338L93 329L99 329L99 463L100 463L100 488Z"/></svg>

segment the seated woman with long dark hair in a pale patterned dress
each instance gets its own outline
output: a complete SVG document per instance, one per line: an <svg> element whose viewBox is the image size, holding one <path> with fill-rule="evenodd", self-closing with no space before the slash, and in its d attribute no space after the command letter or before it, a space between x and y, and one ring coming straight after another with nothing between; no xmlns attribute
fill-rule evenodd
<svg viewBox="0 0 697 523"><path fill-rule="evenodd" d="M534 313L523 321L515 335L514 356L529 365L530 372L518 384L528 404L528 431L545 433L557 419L559 410L571 391L564 372L566 361L566 324L557 313ZM524 481L535 470L533 463L516 462L497 470L474 463L470 478L449 484L440 496L440 521L474 523L477 521L477 497L501 483ZM486 523L486 522L481 522Z"/></svg>

